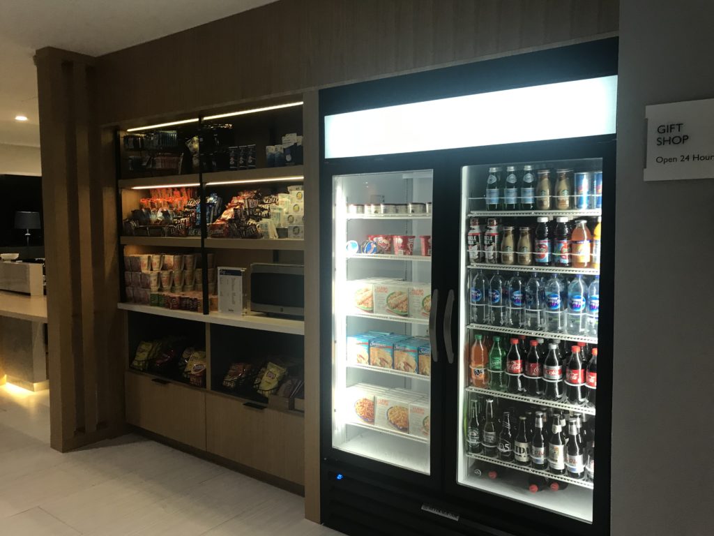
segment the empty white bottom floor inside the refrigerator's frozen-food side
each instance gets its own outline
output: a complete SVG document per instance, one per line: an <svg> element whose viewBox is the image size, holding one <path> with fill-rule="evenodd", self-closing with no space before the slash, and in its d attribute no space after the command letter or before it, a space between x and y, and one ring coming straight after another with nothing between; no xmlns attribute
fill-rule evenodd
<svg viewBox="0 0 714 536"><path fill-rule="evenodd" d="M424 475L429 474L429 445L425 442L396 439L381 432L365 430L335 448Z"/></svg>

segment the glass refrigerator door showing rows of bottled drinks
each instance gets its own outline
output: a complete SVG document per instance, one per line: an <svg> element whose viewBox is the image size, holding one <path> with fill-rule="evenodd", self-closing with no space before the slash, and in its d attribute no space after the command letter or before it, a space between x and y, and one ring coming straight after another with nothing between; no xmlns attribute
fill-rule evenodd
<svg viewBox="0 0 714 536"><path fill-rule="evenodd" d="M493 162L463 167L461 177L457 481L585 522L593 521L595 389L581 382L598 345L591 283L600 273L602 169L602 159ZM578 343L580 364L570 357ZM518 359L508 359L514 346ZM555 363L545 362L549 347ZM578 434L568 439L571 417ZM555 422L565 423L562 436Z"/></svg>

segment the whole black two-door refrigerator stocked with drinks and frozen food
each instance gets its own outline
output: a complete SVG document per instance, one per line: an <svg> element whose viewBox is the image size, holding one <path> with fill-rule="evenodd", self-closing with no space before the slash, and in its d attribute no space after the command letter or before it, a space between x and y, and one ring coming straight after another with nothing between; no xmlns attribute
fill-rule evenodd
<svg viewBox="0 0 714 536"><path fill-rule="evenodd" d="M321 91L327 525L609 533L616 58Z"/></svg>

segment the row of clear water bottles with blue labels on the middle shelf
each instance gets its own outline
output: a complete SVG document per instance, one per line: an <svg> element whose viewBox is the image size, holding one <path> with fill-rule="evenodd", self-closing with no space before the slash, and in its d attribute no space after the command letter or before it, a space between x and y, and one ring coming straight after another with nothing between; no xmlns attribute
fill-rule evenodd
<svg viewBox="0 0 714 536"><path fill-rule="evenodd" d="M600 276L588 281L575 274L568 281L563 274L538 274L527 279L516 272L491 277L473 270L469 281L471 322L532 331L598 335Z"/></svg>

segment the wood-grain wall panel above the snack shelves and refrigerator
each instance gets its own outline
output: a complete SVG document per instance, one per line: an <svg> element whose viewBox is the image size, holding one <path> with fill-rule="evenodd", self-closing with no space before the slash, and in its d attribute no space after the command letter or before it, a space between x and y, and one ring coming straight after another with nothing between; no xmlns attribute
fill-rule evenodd
<svg viewBox="0 0 714 536"><path fill-rule="evenodd" d="M99 121L171 116L617 29L616 0L281 0L102 56Z"/></svg>

